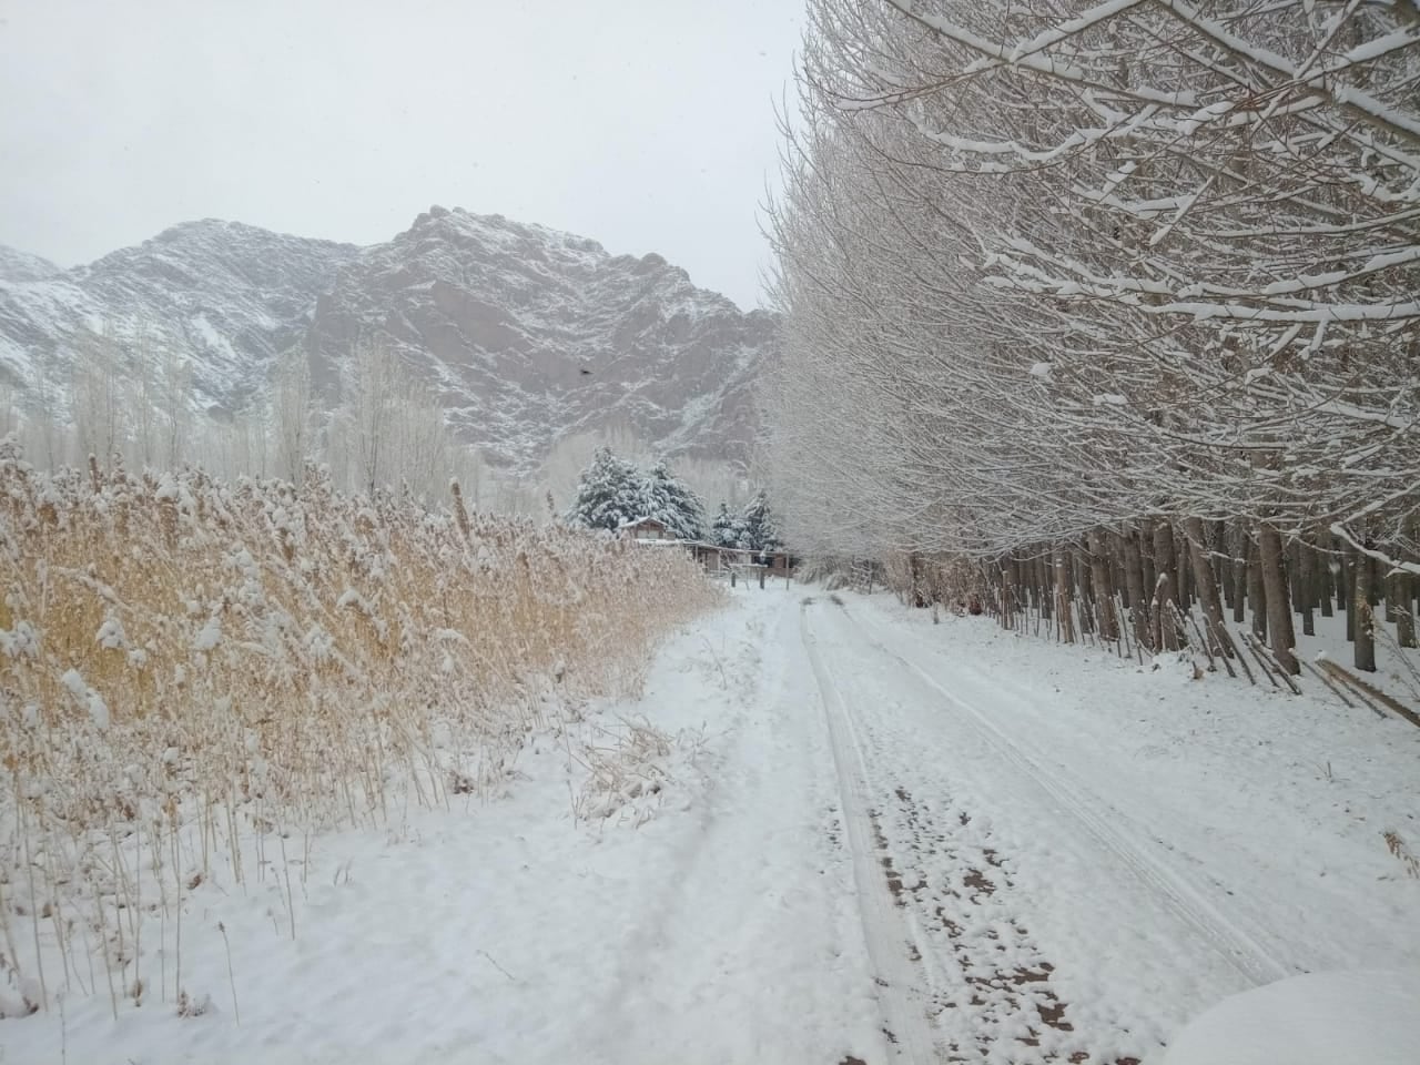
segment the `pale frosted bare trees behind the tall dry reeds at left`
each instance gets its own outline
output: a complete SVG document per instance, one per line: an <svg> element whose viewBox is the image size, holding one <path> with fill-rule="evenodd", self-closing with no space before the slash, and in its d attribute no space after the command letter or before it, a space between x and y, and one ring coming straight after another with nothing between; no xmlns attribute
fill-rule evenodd
<svg viewBox="0 0 1420 1065"><path fill-rule="evenodd" d="M440 498L457 479L474 506L514 510L518 493L491 476L460 442L435 393L398 352L361 341L312 378L300 349L277 359L268 379L230 410L202 409L190 359L138 325L78 337L64 358L33 352L24 381L0 381L0 436L13 433L43 469L200 467L231 480L300 483L308 464L325 467L345 491L409 491Z"/></svg>

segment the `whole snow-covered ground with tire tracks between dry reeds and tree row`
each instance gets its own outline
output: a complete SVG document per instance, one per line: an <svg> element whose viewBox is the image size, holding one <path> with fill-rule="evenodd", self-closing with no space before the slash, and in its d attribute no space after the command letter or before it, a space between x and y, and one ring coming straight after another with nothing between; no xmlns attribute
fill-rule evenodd
<svg viewBox="0 0 1420 1065"><path fill-rule="evenodd" d="M1420 730L1191 673L740 588L491 801L193 888L189 1015L71 993L0 1061L1153 1065L1227 995L1420 970Z"/></svg>

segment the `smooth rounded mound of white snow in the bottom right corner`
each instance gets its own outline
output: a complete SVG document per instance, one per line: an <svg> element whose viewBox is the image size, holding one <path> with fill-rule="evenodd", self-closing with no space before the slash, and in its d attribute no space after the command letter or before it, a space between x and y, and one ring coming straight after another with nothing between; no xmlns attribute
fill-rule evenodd
<svg viewBox="0 0 1420 1065"><path fill-rule="evenodd" d="M1162 1065L1411 1065L1420 968L1311 973L1227 998L1190 1024Z"/></svg>

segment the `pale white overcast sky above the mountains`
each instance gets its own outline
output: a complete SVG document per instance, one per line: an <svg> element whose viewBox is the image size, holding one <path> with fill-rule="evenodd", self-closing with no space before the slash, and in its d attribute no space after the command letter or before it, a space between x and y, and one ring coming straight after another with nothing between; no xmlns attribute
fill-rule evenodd
<svg viewBox="0 0 1420 1065"><path fill-rule="evenodd" d="M430 204L758 302L802 0L0 0L0 243L190 219L388 240Z"/></svg>

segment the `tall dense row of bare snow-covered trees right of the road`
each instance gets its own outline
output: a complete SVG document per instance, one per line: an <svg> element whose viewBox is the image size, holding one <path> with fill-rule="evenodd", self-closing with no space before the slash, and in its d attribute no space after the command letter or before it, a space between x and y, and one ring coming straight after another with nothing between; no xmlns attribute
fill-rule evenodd
<svg viewBox="0 0 1420 1065"><path fill-rule="evenodd" d="M1420 9L811 0L765 393L797 547L974 559L1003 621L1163 649L1198 605L1420 574ZM916 579L916 578L914 578ZM1065 625L1072 619L1069 625Z"/></svg>

